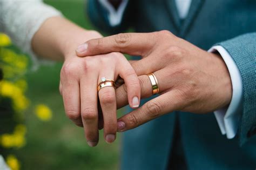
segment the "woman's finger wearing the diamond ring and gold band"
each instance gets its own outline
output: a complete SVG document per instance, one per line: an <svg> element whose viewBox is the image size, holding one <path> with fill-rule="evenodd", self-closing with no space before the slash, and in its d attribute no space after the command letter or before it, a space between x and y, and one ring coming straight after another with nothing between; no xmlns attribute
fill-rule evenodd
<svg viewBox="0 0 256 170"><path fill-rule="evenodd" d="M98 84L102 82L102 77L113 80L114 73L112 71L113 70L104 70L104 73L100 73ZM104 119L104 138L106 142L112 143L116 139L117 132L117 105L114 87L103 87L99 90L98 96Z"/></svg>

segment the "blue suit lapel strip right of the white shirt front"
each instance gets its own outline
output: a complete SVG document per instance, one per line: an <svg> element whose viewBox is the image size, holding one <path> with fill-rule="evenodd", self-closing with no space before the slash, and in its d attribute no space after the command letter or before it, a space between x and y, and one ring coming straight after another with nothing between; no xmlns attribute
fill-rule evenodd
<svg viewBox="0 0 256 170"><path fill-rule="evenodd" d="M185 37L186 33L189 31L191 28L191 25L196 19L199 10L201 9L201 6L203 6L205 0L192 0L190 9L187 13L187 17L185 18L183 24L181 25L179 36L180 37Z"/></svg>

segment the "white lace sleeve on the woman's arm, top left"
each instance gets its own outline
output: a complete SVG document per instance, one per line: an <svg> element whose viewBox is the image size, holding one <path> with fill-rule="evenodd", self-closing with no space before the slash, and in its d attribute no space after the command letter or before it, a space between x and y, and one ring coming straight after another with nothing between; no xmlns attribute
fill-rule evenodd
<svg viewBox="0 0 256 170"><path fill-rule="evenodd" d="M41 0L0 0L0 31L5 32L38 66L38 59L31 49L31 40L42 23L62 14Z"/></svg>

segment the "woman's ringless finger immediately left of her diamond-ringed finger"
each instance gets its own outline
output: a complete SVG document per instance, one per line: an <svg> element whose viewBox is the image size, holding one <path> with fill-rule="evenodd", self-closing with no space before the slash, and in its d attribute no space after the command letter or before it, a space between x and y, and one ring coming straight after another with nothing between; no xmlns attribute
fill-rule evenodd
<svg viewBox="0 0 256 170"><path fill-rule="evenodd" d="M99 140L97 78L89 73L80 79L81 115L89 146L96 146Z"/></svg>

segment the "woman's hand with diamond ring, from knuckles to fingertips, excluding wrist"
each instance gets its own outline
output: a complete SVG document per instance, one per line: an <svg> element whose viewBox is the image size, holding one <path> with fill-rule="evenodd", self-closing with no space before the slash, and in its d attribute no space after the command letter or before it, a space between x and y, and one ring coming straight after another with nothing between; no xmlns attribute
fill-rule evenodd
<svg viewBox="0 0 256 170"><path fill-rule="evenodd" d="M139 106L140 84L137 74L121 53L113 52L86 58L71 55L66 58L60 71L60 92L66 115L76 125L84 127L90 146L97 145L98 130L103 126L106 142L110 143L116 139L116 93L111 86L97 92L102 77L114 81L118 77L123 78L130 106Z"/></svg>

